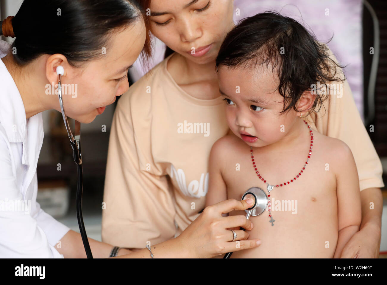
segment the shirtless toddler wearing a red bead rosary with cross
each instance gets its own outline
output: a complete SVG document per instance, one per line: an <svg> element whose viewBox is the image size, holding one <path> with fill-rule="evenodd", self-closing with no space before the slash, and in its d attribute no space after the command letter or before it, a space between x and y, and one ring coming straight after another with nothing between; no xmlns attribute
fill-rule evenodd
<svg viewBox="0 0 387 285"><path fill-rule="evenodd" d="M266 12L226 36L216 67L230 132L211 149L206 206L251 187L270 195L251 231L230 229L236 241L248 233L262 244L232 257L340 257L361 223L356 164L346 143L306 117L336 96L341 66L301 24Z"/></svg>

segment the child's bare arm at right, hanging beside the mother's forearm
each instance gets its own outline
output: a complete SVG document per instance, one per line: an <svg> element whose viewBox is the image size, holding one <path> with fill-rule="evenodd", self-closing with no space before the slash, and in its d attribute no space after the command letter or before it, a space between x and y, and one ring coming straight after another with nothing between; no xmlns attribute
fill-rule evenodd
<svg viewBox="0 0 387 285"><path fill-rule="evenodd" d="M333 258L340 258L341 252L349 239L360 228L361 202L359 177L356 164L346 143L339 143L336 152L337 158L337 216L339 225L339 238Z"/></svg>

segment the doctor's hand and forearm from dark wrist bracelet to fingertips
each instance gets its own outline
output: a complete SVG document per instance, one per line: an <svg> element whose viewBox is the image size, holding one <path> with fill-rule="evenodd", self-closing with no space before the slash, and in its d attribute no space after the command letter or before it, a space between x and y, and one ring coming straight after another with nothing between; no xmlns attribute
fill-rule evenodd
<svg viewBox="0 0 387 285"><path fill-rule="evenodd" d="M178 237L151 245L154 258L210 258L259 246L260 240L247 240L248 233L245 233L238 236L236 247L227 229L246 226L247 230L252 230L253 224L245 216L222 216L222 213L245 210L252 204L253 201L249 205L247 200L229 199L206 207ZM141 249L117 258L151 258L151 253L148 249Z"/></svg>

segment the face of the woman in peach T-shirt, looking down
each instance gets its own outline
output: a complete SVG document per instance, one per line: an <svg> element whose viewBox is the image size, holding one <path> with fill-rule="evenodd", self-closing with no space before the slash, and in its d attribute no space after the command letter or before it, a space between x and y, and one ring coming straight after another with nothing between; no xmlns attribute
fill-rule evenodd
<svg viewBox="0 0 387 285"><path fill-rule="evenodd" d="M233 28L233 11L234 0L152 0L151 31L175 52L206 64Z"/></svg>

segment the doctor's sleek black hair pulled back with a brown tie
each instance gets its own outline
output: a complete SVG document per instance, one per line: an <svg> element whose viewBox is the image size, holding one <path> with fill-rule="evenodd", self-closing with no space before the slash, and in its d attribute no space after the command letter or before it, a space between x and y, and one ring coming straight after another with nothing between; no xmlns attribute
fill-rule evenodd
<svg viewBox="0 0 387 285"><path fill-rule="evenodd" d="M112 29L124 28L140 17L145 21L135 0L24 0L12 19L16 36L12 54L21 66L42 54L63 54L77 66L102 55ZM151 56L149 40L141 56L144 60Z"/></svg>

